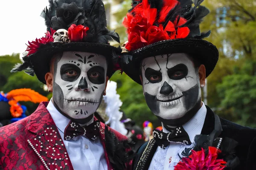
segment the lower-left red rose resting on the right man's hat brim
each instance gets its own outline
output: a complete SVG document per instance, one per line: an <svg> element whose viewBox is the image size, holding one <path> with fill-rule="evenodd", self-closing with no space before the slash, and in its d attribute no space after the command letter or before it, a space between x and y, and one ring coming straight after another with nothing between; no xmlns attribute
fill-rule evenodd
<svg viewBox="0 0 256 170"><path fill-rule="evenodd" d="M133 51L138 48L142 48L143 46L147 45L146 42L142 42L140 33L131 32L128 34L128 43L126 43L125 48L128 51Z"/></svg>

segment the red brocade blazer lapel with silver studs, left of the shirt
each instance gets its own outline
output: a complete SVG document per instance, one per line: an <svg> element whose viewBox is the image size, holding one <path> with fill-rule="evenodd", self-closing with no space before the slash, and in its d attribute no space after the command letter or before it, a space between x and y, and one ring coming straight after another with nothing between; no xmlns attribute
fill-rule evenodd
<svg viewBox="0 0 256 170"><path fill-rule="evenodd" d="M35 151L47 170L73 170L67 150L58 129L43 102L30 117L29 130L35 136L28 139L29 146Z"/></svg>

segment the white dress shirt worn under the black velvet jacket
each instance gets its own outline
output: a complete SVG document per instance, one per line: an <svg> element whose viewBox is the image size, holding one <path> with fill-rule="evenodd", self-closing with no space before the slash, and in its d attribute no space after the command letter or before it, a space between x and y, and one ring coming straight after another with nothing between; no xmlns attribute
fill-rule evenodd
<svg viewBox="0 0 256 170"><path fill-rule="evenodd" d="M181 152L186 147L192 147L193 143L195 142L195 136L201 134L206 113L207 109L202 102L202 107L195 114L195 116L183 125L183 128L188 133L189 139L192 142L191 145L170 142L169 146L167 146L165 149L157 147L148 170L174 170L174 166L180 161L178 153L180 156L182 156ZM163 132L169 133L164 126Z"/></svg>

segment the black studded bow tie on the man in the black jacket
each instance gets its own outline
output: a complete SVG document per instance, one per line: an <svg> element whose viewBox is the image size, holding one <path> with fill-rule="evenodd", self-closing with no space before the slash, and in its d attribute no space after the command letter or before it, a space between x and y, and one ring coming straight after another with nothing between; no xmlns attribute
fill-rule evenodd
<svg viewBox="0 0 256 170"><path fill-rule="evenodd" d="M155 129L153 130L153 136L156 144L163 149L165 149L170 142L191 144L189 135L182 126L176 127L173 132L170 133L164 133L163 131Z"/></svg>

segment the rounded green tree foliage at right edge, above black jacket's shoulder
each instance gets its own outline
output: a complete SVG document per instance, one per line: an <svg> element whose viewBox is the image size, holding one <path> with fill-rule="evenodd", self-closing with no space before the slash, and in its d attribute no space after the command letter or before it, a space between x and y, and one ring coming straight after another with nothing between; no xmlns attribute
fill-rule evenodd
<svg viewBox="0 0 256 170"><path fill-rule="evenodd" d="M230 111L222 116L250 127L256 127L256 77L250 74L254 64L245 62L236 74L224 77L217 86L221 107Z"/></svg>

